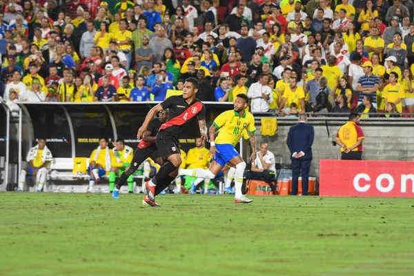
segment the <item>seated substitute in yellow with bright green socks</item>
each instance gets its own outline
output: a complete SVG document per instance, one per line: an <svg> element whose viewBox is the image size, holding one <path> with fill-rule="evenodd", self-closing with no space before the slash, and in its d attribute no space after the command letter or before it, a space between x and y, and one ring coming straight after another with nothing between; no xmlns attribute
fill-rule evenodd
<svg viewBox="0 0 414 276"><path fill-rule="evenodd" d="M112 143L115 148L112 150L112 155L115 157L115 162L112 163L112 167L109 172L109 190L110 193L115 188L115 179L117 176L125 172L126 169L131 165L132 157L134 156L134 150L130 146L125 145L124 139L117 139L116 142ZM130 175L127 179L128 182L128 193L132 193L134 186L133 177Z"/></svg>

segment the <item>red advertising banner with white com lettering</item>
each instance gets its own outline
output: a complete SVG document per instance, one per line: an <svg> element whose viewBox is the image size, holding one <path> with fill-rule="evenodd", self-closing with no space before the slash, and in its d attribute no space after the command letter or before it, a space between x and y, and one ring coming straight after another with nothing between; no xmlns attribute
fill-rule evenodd
<svg viewBox="0 0 414 276"><path fill-rule="evenodd" d="M321 160L319 195L414 197L414 162Z"/></svg>

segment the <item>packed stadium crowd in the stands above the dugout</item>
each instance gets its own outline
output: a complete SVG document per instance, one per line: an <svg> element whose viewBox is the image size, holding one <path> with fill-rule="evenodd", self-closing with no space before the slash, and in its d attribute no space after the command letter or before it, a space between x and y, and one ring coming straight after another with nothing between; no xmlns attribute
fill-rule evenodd
<svg viewBox="0 0 414 276"><path fill-rule="evenodd" d="M201 101L244 93L252 112L414 113L413 14L413 0L1 1L0 97L162 101L197 77Z"/></svg>

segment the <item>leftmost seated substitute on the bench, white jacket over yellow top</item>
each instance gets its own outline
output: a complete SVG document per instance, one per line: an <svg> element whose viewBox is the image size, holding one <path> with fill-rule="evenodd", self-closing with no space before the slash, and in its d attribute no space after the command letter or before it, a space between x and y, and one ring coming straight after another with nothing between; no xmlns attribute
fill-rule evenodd
<svg viewBox="0 0 414 276"><path fill-rule="evenodd" d="M46 140L41 138L37 141L37 146L31 148L26 157L28 167L21 170L19 176L18 192L22 192L26 177L36 177L37 192L41 192L48 176L47 167L53 160L52 153L46 146Z"/></svg>

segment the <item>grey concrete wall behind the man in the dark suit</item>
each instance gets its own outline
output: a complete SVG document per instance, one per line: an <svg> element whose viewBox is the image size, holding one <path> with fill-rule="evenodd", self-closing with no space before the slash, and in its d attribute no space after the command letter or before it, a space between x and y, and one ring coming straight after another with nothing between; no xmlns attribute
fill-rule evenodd
<svg viewBox="0 0 414 276"><path fill-rule="evenodd" d="M290 152L286 139L290 126L297 121L278 121L277 140L268 142L269 150L275 155L282 155L282 162L290 164ZM333 146L337 130L346 123L343 121L308 121L315 128L313 141L313 161L311 175L319 178L320 159L340 159L339 146ZM326 128L326 124L328 128ZM364 131L364 160L414 160L414 121L362 121L360 126ZM257 126L259 129L259 126ZM329 136L328 136L329 131ZM257 142L262 141L262 135L257 132Z"/></svg>

